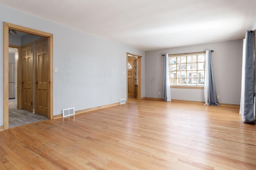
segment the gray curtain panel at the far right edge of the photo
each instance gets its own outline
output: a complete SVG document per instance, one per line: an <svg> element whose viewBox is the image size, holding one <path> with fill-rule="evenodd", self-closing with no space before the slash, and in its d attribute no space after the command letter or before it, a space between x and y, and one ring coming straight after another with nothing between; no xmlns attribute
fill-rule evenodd
<svg viewBox="0 0 256 170"><path fill-rule="evenodd" d="M244 72L244 123L254 124L254 31L246 31Z"/></svg>

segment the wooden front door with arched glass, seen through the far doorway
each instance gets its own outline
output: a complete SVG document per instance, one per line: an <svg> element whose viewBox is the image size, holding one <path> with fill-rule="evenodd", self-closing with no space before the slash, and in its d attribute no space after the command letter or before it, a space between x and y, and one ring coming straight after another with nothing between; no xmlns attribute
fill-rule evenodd
<svg viewBox="0 0 256 170"><path fill-rule="evenodd" d="M128 60L127 64L127 81L128 97L135 97L135 79L134 79L134 60Z"/></svg>

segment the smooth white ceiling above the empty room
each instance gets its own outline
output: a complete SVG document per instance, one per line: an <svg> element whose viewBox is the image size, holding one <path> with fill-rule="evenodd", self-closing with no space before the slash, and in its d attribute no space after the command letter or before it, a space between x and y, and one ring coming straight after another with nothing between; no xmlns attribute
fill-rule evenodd
<svg viewBox="0 0 256 170"><path fill-rule="evenodd" d="M256 0L0 0L144 51L241 39Z"/></svg>

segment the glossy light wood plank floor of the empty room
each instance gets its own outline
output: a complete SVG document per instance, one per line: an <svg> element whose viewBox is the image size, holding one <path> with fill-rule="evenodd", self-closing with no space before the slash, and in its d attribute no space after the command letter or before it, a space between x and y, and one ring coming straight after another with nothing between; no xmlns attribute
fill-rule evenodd
<svg viewBox="0 0 256 170"><path fill-rule="evenodd" d="M0 169L252 170L238 107L130 100L0 132Z"/></svg>

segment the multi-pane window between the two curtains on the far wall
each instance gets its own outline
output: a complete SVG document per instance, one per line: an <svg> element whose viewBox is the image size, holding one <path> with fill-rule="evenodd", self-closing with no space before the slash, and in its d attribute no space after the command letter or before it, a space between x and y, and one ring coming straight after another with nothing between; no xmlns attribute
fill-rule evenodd
<svg viewBox="0 0 256 170"><path fill-rule="evenodd" d="M205 53L169 55L169 75L172 87L204 86Z"/></svg>

